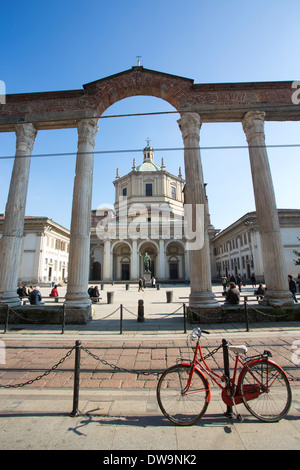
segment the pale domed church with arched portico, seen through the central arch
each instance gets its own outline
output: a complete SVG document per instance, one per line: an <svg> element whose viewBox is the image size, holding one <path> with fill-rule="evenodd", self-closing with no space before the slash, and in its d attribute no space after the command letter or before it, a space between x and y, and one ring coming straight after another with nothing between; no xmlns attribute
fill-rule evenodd
<svg viewBox="0 0 300 470"><path fill-rule="evenodd" d="M154 150L143 150L143 161L119 175L114 210L92 211L90 280L136 281L144 276L144 258L150 256L151 277L159 281L189 279L189 257L184 238L184 179L169 173Z"/></svg>

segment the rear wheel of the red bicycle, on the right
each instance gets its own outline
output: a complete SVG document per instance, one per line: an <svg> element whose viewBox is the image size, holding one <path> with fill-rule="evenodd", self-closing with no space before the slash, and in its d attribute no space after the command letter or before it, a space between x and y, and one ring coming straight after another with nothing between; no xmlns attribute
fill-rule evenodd
<svg viewBox="0 0 300 470"><path fill-rule="evenodd" d="M281 367L258 360L247 365L242 373L241 395L247 410L267 423L284 418L291 406L292 392Z"/></svg>

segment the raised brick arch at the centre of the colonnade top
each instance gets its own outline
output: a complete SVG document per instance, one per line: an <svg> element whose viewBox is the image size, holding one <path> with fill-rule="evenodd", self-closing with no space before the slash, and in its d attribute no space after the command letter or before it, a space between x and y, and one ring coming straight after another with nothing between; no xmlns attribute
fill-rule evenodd
<svg viewBox="0 0 300 470"><path fill-rule="evenodd" d="M177 111L189 102L193 80L175 75L132 67L131 70L111 75L84 85L99 115L112 104L132 96L153 96L171 104Z"/></svg>

